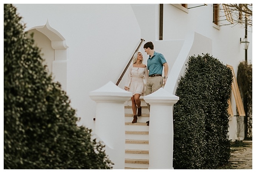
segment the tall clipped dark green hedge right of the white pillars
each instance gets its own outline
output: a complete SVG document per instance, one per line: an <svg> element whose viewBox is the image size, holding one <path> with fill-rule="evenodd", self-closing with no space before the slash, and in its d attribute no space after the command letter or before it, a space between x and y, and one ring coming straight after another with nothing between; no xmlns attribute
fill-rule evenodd
<svg viewBox="0 0 256 173"><path fill-rule="evenodd" d="M191 56L174 105L174 169L214 169L230 157L232 71L209 54Z"/></svg>

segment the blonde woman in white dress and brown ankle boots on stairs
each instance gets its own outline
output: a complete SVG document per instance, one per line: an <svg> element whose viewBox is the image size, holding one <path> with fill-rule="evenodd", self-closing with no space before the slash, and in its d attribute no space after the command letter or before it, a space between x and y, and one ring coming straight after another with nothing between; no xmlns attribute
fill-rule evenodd
<svg viewBox="0 0 256 173"><path fill-rule="evenodd" d="M143 77L146 83L148 79L148 69L145 64L142 64L143 57L141 52L136 52L133 56L133 64L128 69L128 80L124 89L133 93L132 100L132 123L137 123L137 119L141 116L141 100L140 96L144 93L145 86ZM138 107L138 114L137 114ZM137 117L138 116L138 117Z"/></svg>

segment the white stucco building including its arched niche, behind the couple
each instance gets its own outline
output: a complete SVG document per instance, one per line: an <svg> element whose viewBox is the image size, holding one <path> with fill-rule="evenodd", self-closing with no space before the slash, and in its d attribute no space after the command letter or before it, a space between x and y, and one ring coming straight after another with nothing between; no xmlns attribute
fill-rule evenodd
<svg viewBox="0 0 256 173"><path fill-rule="evenodd" d="M178 77L184 74L184 64L189 56L209 53L223 64L232 66L235 74L239 63L245 59L240 44L240 38L245 35L244 27L240 24L223 26L229 23L224 14L219 15L223 17L215 24L213 4L14 6L23 17L26 30L34 33L35 42L42 48L42 57L46 59L54 80L60 81L72 107L77 110L77 116L81 117L79 125L93 131L97 104L90 98L90 92L109 81L118 81L141 38L145 40L139 49L144 63L147 63L148 56L143 44L147 41L152 41L155 51L167 59L170 77L164 89L171 94L175 94ZM251 31L252 28L248 28L248 62L252 62ZM124 76L119 83L120 89L124 88L125 79ZM238 115L234 96L231 103L233 114ZM238 134L239 119L240 116L230 117L229 135L233 141L244 138L244 133ZM147 167L148 164L142 168Z"/></svg>

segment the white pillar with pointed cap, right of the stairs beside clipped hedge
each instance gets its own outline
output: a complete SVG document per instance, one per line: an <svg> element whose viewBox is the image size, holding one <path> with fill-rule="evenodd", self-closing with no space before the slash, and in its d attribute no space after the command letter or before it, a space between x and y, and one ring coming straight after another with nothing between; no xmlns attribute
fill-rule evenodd
<svg viewBox="0 0 256 173"><path fill-rule="evenodd" d="M173 104L179 97L160 88L144 100L150 104L148 169L173 169Z"/></svg>

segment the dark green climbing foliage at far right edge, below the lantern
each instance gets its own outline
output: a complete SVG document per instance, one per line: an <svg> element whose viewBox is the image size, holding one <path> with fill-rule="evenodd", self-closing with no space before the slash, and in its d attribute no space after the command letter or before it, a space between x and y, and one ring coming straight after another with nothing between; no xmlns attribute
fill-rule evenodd
<svg viewBox="0 0 256 173"><path fill-rule="evenodd" d="M243 61L237 70L237 84L245 112L245 139L252 139L252 64Z"/></svg>

